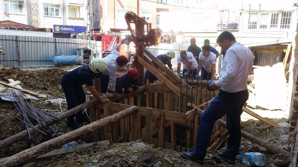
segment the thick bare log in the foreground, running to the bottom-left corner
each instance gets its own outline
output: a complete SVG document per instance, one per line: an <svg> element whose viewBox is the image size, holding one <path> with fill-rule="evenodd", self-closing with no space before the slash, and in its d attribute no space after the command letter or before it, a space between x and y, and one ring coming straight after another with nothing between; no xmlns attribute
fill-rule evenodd
<svg viewBox="0 0 298 167"><path fill-rule="evenodd" d="M123 119L137 111L138 111L138 108L134 105L119 113L105 117L91 124L80 127L79 129L66 133L62 136L58 136L57 138L53 138L47 142L38 144L37 146L34 146L30 149L26 149L11 157L7 157L3 160L0 160L0 166L2 167L20 166L22 163L24 163L27 160L31 160L40 155L43 155L44 153L49 152L53 149L56 149L61 145L66 144L70 141L73 141L79 138L80 136L86 135L96 129L105 127L106 125L109 125L112 122Z"/></svg>

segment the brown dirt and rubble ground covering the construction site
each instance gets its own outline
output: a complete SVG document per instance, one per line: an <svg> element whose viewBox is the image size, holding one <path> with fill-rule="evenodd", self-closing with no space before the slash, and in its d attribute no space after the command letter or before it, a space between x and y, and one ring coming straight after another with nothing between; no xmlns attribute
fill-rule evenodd
<svg viewBox="0 0 298 167"><path fill-rule="evenodd" d="M63 68L51 67L47 69L20 69L16 67L3 68L0 70L0 80L8 83L8 79L14 81L21 81L19 84L24 89L32 92L39 92L48 95L47 98L32 100L34 107L46 111L52 115L59 115L67 110L67 104L52 104L47 103L46 100L65 99L63 89L61 89L60 78L66 73L66 70L72 69L74 66L67 66ZM125 69L118 71L121 74ZM86 93L86 100L89 100L91 93L87 87L83 86ZM261 138L271 144L288 151L288 113L284 111L270 111L262 108L256 108L254 105L254 95L251 93L247 103L255 113L267 117L270 121L277 123L279 127L272 127L251 115L243 112L241 115L242 130ZM15 108L9 101L0 101L0 121L10 114ZM20 116L20 115L18 115ZM80 124L81 126L83 124ZM63 135L72 131L66 127L66 123L61 121L51 126L59 135ZM0 125L0 140L4 140L25 130L25 124L15 117L10 117ZM45 130L50 134L50 130ZM52 138L51 135L39 134L35 137L35 145L39 142L45 142ZM76 140L78 144L91 143L91 136L83 136ZM136 144L138 143L138 144ZM135 144L135 145L134 145ZM9 157L21 152L34 144L24 138L14 144L0 149L0 158ZM142 147L137 147L142 145ZM223 152L226 149L226 140L221 144L218 151ZM265 154L266 166L287 166L290 163L288 155L274 154L267 149L252 143L251 141L242 138L239 150L239 155L236 157L236 164L229 165L224 160L219 159L214 153L207 154L204 165L183 159L178 152L170 149L156 148L154 145L148 145L142 141L131 141L128 143L116 143L111 146L102 144L93 144L87 147L78 149L75 152L66 153L62 155L55 155L41 159L35 159L27 162L24 166L48 166L48 167L62 167L62 166L86 166L91 163L95 167L101 166L155 166L155 167L189 167L189 166L245 166L239 161L239 156L244 152L261 152Z"/></svg>

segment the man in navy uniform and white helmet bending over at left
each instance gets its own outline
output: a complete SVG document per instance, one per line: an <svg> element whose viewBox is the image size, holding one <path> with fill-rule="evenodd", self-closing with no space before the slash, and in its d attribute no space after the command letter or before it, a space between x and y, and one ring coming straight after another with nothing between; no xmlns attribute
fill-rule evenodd
<svg viewBox="0 0 298 167"><path fill-rule="evenodd" d="M61 86L64 90L67 110L75 108L76 106L86 102L86 95L82 85L86 84L92 95L102 103L110 102L109 99L103 99L100 94L95 90L93 79L100 84L100 73L107 68L107 62L103 59L92 59L89 65L84 65L69 71L61 78ZM99 86L100 87L100 86ZM66 125L72 129L77 129L80 126L76 122L88 122L89 119L82 115L82 112L78 112L75 115L69 116L66 119Z"/></svg>

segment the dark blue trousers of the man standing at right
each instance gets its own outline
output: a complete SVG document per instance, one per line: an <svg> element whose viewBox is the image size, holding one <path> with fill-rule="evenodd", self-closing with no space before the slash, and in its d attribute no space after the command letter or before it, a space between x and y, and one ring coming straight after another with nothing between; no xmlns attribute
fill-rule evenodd
<svg viewBox="0 0 298 167"><path fill-rule="evenodd" d="M206 156L214 123L226 115L226 126L230 136L225 154L231 160L235 159L241 141L240 115L242 106L247 99L247 89L235 93L221 90L218 96L211 101L200 118L200 128L195 143L195 151L199 154L199 158L204 159Z"/></svg>

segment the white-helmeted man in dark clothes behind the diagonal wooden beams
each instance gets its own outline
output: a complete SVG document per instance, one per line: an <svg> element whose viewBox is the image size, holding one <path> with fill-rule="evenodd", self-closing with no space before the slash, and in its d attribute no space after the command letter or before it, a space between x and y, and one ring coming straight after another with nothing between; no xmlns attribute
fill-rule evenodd
<svg viewBox="0 0 298 167"><path fill-rule="evenodd" d="M175 52L173 50L169 50L165 54L158 55L158 56L156 56L156 58L159 59L164 65L167 64L169 69L173 71L173 68L172 68L173 65L171 63L171 60L175 58ZM155 64L153 61L152 61L152 63L158 68L157 64ZM144 78L145 78L144 83L147 83L147 79L149 80L149 83L153 83L153 81L156 81L158 79L149 70L146 70Z"/></svg>

